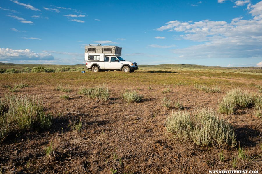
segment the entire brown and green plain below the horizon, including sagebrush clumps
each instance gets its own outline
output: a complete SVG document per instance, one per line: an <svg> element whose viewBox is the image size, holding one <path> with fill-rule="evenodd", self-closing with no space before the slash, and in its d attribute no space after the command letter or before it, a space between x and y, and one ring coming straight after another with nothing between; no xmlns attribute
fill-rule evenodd
<svg viewBox="0 0 262 174"><path fill-rule="evenodd" d="M70 69L0 74L1 173L262 171L261 67Z"/></svg>

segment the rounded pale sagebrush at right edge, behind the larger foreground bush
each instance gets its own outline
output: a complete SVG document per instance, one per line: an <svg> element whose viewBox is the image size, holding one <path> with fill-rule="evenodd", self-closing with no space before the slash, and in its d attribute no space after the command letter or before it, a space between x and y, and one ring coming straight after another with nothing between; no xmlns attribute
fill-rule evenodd
<svg viewBox="0 0 262 174"><path fill-rule="evenodd" d="M224 114L233 114L240 108L261 107L262 98L254 93L242 89L232 89L226 92L226 95L219 103L219 112Z"/></svg>

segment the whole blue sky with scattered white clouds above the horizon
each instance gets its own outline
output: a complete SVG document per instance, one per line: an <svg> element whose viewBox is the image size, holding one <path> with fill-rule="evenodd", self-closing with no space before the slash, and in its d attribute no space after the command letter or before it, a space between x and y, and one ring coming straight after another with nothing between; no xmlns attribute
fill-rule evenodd
<svg viewBox="0 0 262 174"><path fill-rule="evenodd" d="M0 62L79 64L84 45L138 64L262 66L262 1L1 0Z"/></svg>

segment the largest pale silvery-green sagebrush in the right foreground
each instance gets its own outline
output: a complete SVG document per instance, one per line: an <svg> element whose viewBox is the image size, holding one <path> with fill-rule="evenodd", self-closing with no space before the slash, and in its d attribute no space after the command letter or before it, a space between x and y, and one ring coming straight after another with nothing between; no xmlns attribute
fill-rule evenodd
<svg viewBox="0 0 262 174"><path fill-rule="evenodd" d="M172 112L165 127L178 138L191 139L200 146L236 146L234 130L212 108L198 108L194 116L181 110Z"/></svg>

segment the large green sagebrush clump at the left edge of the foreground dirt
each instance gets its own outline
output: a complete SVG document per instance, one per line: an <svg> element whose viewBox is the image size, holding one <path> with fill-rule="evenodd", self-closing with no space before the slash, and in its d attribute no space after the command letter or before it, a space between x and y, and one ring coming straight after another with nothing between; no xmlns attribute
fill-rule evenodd
<svg viewBox="0 0 262 174"><path fill-rule="evenodd" d="M1 137L10 132L48 129L52 125L52 116L45 114L41 99L27 95L7 98L8 110L0 115Z"/></svg>

